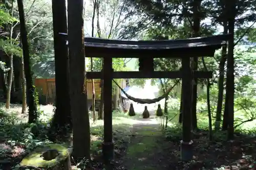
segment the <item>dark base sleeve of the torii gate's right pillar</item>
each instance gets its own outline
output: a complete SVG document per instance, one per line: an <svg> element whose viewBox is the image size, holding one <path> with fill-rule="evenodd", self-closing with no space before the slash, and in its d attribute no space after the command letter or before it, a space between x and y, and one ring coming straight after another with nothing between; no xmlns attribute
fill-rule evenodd
<svg viewBox="0 0 256 170"><path fill-rule="evenodd" d="M193 141L185 142L183 140L180 141L181 147L181 160L182 161L190 161L193 159Z"/></svg>

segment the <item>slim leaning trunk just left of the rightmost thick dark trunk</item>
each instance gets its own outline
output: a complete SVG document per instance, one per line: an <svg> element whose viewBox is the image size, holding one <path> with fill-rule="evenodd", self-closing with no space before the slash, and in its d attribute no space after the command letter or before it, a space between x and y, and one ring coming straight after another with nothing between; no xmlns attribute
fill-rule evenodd
<svg viewBox="0 0 256 170"><path fill-rule="evenodd" d="M227 22L226 21L223 22L223 28L224 28L223 34L227 34ZM221 51L221 60L220 60L220 65L219 65L220 77L219 77L219 82L218 82L219 92L218 92L215 130L219 130L220 124L221 124L221 113L222 113L223 91L224 91L224 67L225 67L225 63L227 60L226 55L227 55L227 45L223 45L222 51Z"/></svg>

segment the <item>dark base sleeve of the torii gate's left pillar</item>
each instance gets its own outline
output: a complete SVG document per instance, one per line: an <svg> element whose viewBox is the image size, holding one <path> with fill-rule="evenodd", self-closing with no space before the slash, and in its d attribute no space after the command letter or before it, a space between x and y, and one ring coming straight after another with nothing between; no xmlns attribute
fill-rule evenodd
<svg viewBox="0 0 256 170"><path fill-rule="evenodd" d="M102 142L102 153L104 163L109 164L112 160L114 160L114 143L113 142Z"/></svg>

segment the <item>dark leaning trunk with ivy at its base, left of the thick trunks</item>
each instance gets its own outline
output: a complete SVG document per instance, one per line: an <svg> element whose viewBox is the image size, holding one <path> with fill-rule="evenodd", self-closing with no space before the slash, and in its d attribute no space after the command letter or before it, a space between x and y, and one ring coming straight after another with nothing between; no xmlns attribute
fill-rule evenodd
<svg viewBox="0 0 256 170"><path fill-rule="evenodd" d="M29 44L28 44L28 35L27 35L26 24L25 24L23 1L17 0L17 4L18 4L18 14L19 14L19 21L20 21L20 37L22 39L22 48L23 48L24 71L25 71L27 91L28 91L29 124L31 124L37 121L36 93L35 93L35 87L33 86L33 80L32 80L32 70L30 65Z"/></svg>

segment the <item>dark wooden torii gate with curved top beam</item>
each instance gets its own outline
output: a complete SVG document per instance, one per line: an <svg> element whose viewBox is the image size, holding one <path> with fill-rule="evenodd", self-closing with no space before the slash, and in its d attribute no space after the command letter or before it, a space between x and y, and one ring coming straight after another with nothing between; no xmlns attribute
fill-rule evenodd
<svg viewBox="0 0 256 170"><path fill-rule="evenodd" d="M104 141L102 143L105 160L114 159L112 129L112 79L142 78L182 78L182 140L181 159L193 156L191 140L191 80L211 78L212 71L191 71L191 57L213 57L217 49L230 39L230 35L161 41L126 41L101 38L84 38L86 57L103 58L102 72L87 72L87 79L103 80L104 96ZM140 71L113 71L112 58L139 58ZM180 71L154 71L154 58L181 59ZM79 64L79 63L78 63Z"/></svg>

